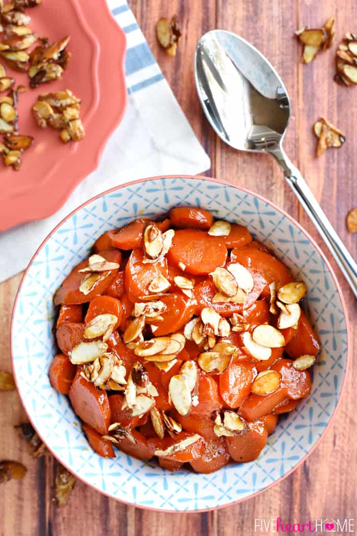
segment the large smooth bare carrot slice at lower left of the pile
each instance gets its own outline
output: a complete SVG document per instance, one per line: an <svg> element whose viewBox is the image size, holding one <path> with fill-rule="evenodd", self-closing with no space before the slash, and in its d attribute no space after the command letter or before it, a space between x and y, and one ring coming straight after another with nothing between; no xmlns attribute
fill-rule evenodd
<svg viewBox="0 0 357 536"><path fill-rule="evenodd" d="M110 405L106 391L88 382L79 372L74 377L70 389L70 400L74 413L98 434L108 433L110 425Z"/></svg>

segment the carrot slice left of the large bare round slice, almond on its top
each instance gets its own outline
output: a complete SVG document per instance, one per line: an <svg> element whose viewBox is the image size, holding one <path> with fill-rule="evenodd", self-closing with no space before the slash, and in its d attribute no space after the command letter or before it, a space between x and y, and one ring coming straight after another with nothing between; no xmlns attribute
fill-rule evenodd
<svg viewBox="0 0 357 536"><path fill-rule="evenodd" d="M135 303L140 296L150 294L148 286L158 276L168 275L165 257L158 258L153 264L143 263L142 249L134 249L125 266L125 290L129 299Z"/></svg>

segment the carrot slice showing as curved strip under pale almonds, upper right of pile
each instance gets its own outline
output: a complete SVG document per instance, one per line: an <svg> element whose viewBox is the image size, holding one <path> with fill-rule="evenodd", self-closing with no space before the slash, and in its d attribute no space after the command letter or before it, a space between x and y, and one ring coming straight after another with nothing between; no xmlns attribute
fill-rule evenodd
<svg viewBox="0 0 357 536"><path fill-rule="evenodd" d="M265 279L259 273L253 271L250 271L250 273L252 273L254 287L253 290L247 294L247 299L244 304L230 302L212 303L213 297L217 293L217 289L210 279L206 279L201 281L198 285L195 285L195 315L199 315L204 307L210 307L218 312L221 316L229 317L232 316L233 312L240 313L242 310L249 309L253 303L256 302L263 289L267 285Z"/></svg>

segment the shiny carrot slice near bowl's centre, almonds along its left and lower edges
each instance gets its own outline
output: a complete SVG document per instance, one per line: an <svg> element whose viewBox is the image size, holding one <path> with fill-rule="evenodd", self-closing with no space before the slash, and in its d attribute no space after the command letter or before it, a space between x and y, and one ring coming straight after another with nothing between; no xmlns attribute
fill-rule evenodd
<svg viewBox="0 0 357 536"><path fill-rule="evenodd" d="M195 304L185 294L181 292L165 294L160 301L165 304L166 311L161 314L163 320L151 323L157 326L157 329L153 330L155 337L179 331L191 320Z"/></svg>

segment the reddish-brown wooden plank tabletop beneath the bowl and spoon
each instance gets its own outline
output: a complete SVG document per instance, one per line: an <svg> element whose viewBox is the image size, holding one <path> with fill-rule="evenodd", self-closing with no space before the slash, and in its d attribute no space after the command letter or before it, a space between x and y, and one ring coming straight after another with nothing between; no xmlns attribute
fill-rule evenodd
<svg viewBox="0 0 357 536"><path fill-rule="evenodd" d="M180 106L210 155L212 166L207 175L259 192L283 207L312 234L331 260L273 159L238 153L224 145L209 128L196 96L194 48L201 34L209 29L236 32L269 58L285 81L292 103L285 150L306 177L332 225L355 257L357 235L348 235L345 217L347 211L357 205L354 169L357 166L357 108L354 108L357 88L341 87L332 80L336 43L306 66L300 62L301 49L293 38L293 31L302 24L321 27L332 15L336 17L338 40L346 31L355 31L355 0L340 2L338 9L333 0L132 0L130 4ZM157 19L173 13L178 14L183 30L175 58L160 50L155 38ZM312 125L321 115L343 130L347 141L342 148L328 150L320 159L315 159L316 139ZM20 245L18 254L21 255ZM18 459L28 467L24 480L0 486L1 534L92 536L105 532L116 536L250 536L255 533L255 518L268 521L279 516L285 523L298 523L315 518L357 517L357 418L353 379L353 350L357 349L353 326L357 315L352 292L334 262L332 266L345 296L352 327L352 367L332 426L309 459L290 477L257 497L216 512L171 514L126 507L81 482L75 486L70 504L58 509L51 501L54 460L50 457L32 459L27 445L13 431L13 425L25 420L17 393L0 393L3 408L0 459ZM0 369L5 370L11 369L9 326L20 277L19 274L0 285Z"/></svg>

